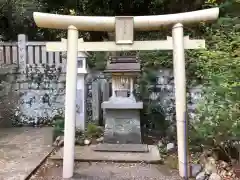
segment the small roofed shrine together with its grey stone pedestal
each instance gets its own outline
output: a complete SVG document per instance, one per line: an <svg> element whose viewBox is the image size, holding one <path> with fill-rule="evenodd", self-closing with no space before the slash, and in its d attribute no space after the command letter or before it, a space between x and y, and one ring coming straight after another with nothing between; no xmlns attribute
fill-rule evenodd
<svg viewBox="0 0 240 180"><path fill-rule="evenodd" d="M102 103L106 112L104 143L141 144L140 109L134 80L140 72L136 57L110 57L105 73L112 74L112 96Z"/></svg>

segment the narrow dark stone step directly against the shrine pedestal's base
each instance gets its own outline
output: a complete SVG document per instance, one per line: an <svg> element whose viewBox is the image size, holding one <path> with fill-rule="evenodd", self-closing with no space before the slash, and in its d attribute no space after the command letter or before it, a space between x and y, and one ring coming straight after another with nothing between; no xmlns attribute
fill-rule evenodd
<svg viewBox="0 0 240 180"><path fill-rule="evenodd" d="M98 144L94 151L101 152L149 152L147 144Z"/></svg>

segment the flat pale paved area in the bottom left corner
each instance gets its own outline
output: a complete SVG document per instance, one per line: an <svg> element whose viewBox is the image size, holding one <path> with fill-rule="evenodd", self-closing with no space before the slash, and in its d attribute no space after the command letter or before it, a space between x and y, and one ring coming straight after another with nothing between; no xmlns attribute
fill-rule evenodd
<svg viewBox="0 0 240 180"><path fill-rule="evenodd" d="M52 151L52 128L0 128L0 180L25 180Z"/></svg>

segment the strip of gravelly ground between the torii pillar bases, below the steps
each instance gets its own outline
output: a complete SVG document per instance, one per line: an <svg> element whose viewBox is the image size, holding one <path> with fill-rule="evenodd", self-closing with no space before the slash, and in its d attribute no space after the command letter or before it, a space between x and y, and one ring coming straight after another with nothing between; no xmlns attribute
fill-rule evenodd
<svg viewBox="0 0 240 180"><path fill-rule="evenodd" d="M47 161L30 180L62 180L62 164ZM181 180L162 165L79 162L72 180Z"/></svg>

